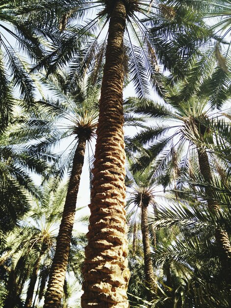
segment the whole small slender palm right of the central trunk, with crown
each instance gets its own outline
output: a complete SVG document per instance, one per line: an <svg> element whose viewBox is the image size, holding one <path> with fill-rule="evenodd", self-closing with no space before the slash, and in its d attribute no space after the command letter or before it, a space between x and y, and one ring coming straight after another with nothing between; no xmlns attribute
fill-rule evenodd
<svg viewBox="0 0 231 308"><path fill-rule="evenodd" d="M156 275L154 274L153 264L151 260L151 243L149 230L150 226L148 225L150 220L150 213L148 214L148 206L152 205L153 210L155 210L156 207L154 201L154 189L156 181L151 180L151 178L152 172L150 173L150 169L146 169L144 172L133 173L132 179L130 180L131 182L133 182L133 184L129 185L129 199L127 202L127 206L133 204L141 210L140 219L142 242L144 249L144 274L148 300L151 300L154 294L156 294ZM130 217L129 220L131 219L132 218ZM155 234L152 234L152 236L155 237Z"/></svg>

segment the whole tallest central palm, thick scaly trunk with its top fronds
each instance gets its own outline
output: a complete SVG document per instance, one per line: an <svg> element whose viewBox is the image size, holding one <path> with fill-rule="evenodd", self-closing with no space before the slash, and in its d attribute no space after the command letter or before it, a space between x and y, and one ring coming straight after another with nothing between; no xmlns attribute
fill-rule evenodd
<svg viewBox="0 0 231 308"><path fill-rule="evenodd" d="M95 5L92 5L91 1L77 1L73 3L69 13L63 16L60 28L70 32L73 29L76 32L74 34L71 33L65 44L61 44L57 51L54 51L41 62L40 66L47 66L47 62L52 62L52 65L48 68L48 73L50 73L54 72L58 66L61 67L66 62L70 62L78 42L83 39L86 33L91 34L96 29L98 19L103 22L103 26L106 26L109 21L106 53L104 52L106 38L102 44L98 45L97 39L102 34L100 31L96 38L93 37L93 43L90 42L88 44L87 42L85 44L84 50L80 54L81 57L77 55L74 57L73 63L71 63L71 70L73 72L71 86L75 87L78 78L80 76L82 78L84 76L83 73L87 69L89 69L91 77L97 76L98 67L102 62L105 62L99 105L100 112L90 205L91 217L87 235L89 242L86 247L86 263L84 268L85 282L83 288L85 293L82 297L82 305L87 307L90 303L94 303L94 305L103 307L102 305L111 303L111 306L125 305L124 307L127 307L125 290L129 275L125 259L127 254L127 249L125 248L126 241L124 240L126 233L126 227L124 227L125 154L122 131L124 122L122 108L124 67L129 64L131 78L140 96L144 96L149 92L146 76L149 76L148 79L157 92L160 95L163 93L164 78L158 72L157 57L150 42L150 36L146 32L146 25L148 25L148 22L151 24L155 18L159 18L159 20L164 19L166 22L164 30L154 30L162 38L162 40L158 41L159 48L157 48L156 52L166 68L173 68L177 71L176 63L180 62L181 66L183 63L181 61L182 54L189 55L187 58L189 60L192 50L195 50L196 45L194 42L193 47L190 46L192 49L190 49L188 47L188 41L190 40L187 41L187 46L185 43L179 44L174 49L173 55L175 58L173 61L171 61L168 52L163 52L163 45L166 47L166 37L168 37L168 46L165 51L173 47L174 44L170 42L169 36L174 31L175 33L181 33L179 29L184 29L186 30L183 34L184 39L189 37L189 24L182 23L179 26L178 20L171 17L172 15L173 17L177 15L180 20L187 19L188 12L186 6L182 10L179 4L179 6L176 6L176 10L172 7L169 10L168 6L160 5L157 7L152 1L102 0L93 3ZM78 27L71 25L68 29L68 20L71 21L78 16L83 17L84 13L88 12L87 8L90 9L91 7L97 7L98 14L95 18L90 20L90 22L80 23ZM171 16L166 14L169 11L173 12ZM140 22L140 14L144 18L148 15L150 17L148 16L147 20ZM200 38L204 38L208 34L208 32L204 34L206 30L199 18L195 22L190 17L190 23L195 25L197 34L200 32L200 35L202 35ZM128 33L127 42L123 39L125 28L127 30L129 27L135 35L138 46L132 43L129 31L126 31ZM164 35L162 35L163 33ZM181 40L182 42L183 40ZM130 59L124 57L124 49L128 50ZM190 50L191 53L185 53L186 49L187 51ZM176 51L178 50L183 50L183 53L177 53ZM95 65L94 55L96 55L99 65ZM140 55L144 57L144 63L141 61ZM74 62L78 64L77 69ZM179 76L183 76L182 71L181 74L179 72ZM110 221L111 223L109 223ZM114 222L112 223L112 221ZM100 234L101 238L98 238L98 234ZM115 243L117 244L115 245ZM115 247L112 248L112 246ZM106 264L106 266L103 264ZM102 278L101 282L99 277ZM54 306L56 305L55 302Z"/></svg>

